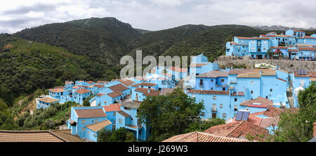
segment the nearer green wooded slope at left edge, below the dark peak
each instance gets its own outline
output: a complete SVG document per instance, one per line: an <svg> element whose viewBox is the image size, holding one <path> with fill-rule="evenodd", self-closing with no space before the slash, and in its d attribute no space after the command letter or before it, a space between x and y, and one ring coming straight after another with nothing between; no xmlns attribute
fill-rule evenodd
<svg viewBox="0 0 316 156"><path fill-rule="evenodd" d="M8 105L19 94L49 88L64 80L116 78L118 69L74 55L64 48L0 35L0 97Z"/></svg>

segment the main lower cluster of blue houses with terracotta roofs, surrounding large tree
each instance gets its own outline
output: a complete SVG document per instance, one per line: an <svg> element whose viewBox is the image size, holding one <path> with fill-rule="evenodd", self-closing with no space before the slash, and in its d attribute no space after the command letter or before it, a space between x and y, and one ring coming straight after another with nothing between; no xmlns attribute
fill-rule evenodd
<svg viewBox="0 0 316 156"><path fill-rule="evenodd" d="M48 95L36 101L38 109L66 101L80 104L71 108L67 129L85 141L97 141L101 129L114 131L121 127L133 132L136 140L146 141L150 127L136 117L141 102L148 96L166 95L180 87L197 102L204 102L200 114L202 120L223 118L226 124L210 127L205 132L174 136L166 141L183 141L189 136L194 139L197 134L204 135L204 141L249 141L247 134L272 134L277 129L279 114L298 108L298 92L315 81L316 71L289 73L277 66L270 69L220 69L218 64L208 62L201 54L192 57L188 69L156 66L145 78L66 81L65 86L50 89ZM287 94L288 90L292 94ZM89 106L83 106L84 101L88 101ZM194 141L190 139L188 141ZM254 140L262 141L262 138Z"/></svg>

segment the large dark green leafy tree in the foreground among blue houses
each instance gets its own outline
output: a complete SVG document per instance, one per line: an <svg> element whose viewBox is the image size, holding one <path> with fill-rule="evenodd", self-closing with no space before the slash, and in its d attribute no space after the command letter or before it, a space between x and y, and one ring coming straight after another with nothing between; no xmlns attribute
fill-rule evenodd
<svg viewBox="0 0 316 156"><path fill-rule="evenodd" d="M163 141L184 134L189 125L199 121L203 108L202 102L196 104L177 87L166 96L146 97L138 108L138 118L151 127L148 141Z"/></svg>

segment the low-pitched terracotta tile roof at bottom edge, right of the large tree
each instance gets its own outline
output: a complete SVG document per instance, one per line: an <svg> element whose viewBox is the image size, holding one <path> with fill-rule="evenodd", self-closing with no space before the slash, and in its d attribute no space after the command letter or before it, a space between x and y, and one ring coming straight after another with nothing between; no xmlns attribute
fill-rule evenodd
<svg viewBox="0 0 316 156"><path fill-rule="evenodd" d="M225 136L216 136L204 132L191 132L180 134L166 139L162 142L248 142L245 139L235 139Z"/></svg>

